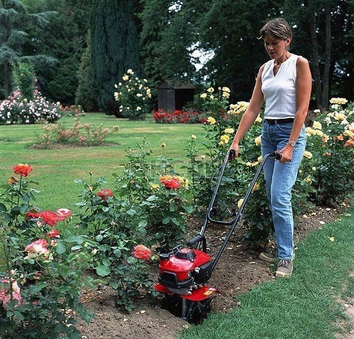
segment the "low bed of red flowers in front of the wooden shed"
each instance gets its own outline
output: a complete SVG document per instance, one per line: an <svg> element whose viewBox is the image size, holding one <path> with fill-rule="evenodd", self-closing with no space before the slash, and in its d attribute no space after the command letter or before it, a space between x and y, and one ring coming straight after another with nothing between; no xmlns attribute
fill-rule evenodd
<svg viewBox="0 0 354 339"><path fill-rule="evenodd" d="M165 112L159 109L154 112L156 123L204 123L206 118L198 111L181 111Z"/></svg>

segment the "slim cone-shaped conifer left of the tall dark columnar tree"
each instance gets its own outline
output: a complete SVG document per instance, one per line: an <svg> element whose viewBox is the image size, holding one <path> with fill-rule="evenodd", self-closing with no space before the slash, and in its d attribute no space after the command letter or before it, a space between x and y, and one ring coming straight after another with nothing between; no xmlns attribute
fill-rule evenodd
<svg viewBox="0 0 354 339"><path fill-rule="evenodd" d="M86 112L98 110L98 91L94 83L91 66L91 32L87 33L87 47L82 54L81 64L77 72L79 85L76 91L75 105L81 105Z"/></svg>

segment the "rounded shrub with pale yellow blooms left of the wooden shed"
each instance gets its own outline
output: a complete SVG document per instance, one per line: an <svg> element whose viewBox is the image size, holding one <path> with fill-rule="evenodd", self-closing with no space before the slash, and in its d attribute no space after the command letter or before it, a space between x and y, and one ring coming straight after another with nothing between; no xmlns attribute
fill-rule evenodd
<svg viewBox="0 0 354 339"><path fill-rule="evenodd" d="M141 80L134 76L134 71L128 69L122 77L123 83L119 82L114 87L114 98L119 102L119 112L130 120L144 120L148 112L151 91L147 86L147 79Z"/></svg>

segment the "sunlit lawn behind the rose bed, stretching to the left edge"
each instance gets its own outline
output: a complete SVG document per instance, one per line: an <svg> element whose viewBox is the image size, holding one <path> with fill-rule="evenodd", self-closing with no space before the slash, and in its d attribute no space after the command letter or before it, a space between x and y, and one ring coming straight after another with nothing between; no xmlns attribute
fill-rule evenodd
<svg viewBox="0 0 354 339"><path fill-rule="evenodd" d="M73 117L61 119L66 125L74 122ZM107 139L117 143L109 147L66 148L60 150L32 150L28 146L36 142L42 125L1 125L0 126L0 183L4 184L13 175L12 167L19 163L30 163L33 172L29 179L39 182L41 193L37 205L42 209L70 208L74 211L79 200L81 187L74 184L75 179L89 180L89 171L94 179L104 177L112 182L112 173L121 173L127 161L125 149L135 147L146 137L151 148L156 149L151 160L162 154L161 143L166 144L166 155L179 166L183 161L183 147L192 134L200 135L200 124L156 124L152 116L145 121L117 119L103 113L89 113L80 117L80 122L102 123L104 126L120 126L117 135ZM111 184L109 182L108 185Z"/></svg>

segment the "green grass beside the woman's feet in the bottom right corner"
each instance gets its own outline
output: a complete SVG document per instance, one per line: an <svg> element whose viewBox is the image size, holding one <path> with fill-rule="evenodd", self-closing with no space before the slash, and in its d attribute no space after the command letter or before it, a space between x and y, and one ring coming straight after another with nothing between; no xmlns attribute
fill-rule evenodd
<svg viewBox="0 0 354 339"><path fill-rule="evenodd" d="M183 339L335 338L336 321L344 314L338 301L353 295L354 209L349 213L300 243L291 278L241 295L240 307L211 314L185 330Z"/></svg>

